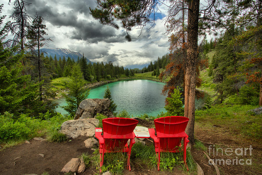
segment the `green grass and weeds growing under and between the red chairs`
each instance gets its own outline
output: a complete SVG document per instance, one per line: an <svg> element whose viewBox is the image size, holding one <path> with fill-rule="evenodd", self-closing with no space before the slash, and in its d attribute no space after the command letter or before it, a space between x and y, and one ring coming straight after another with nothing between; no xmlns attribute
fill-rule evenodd
<svg viewBox="0 0 262 175"><path fill-rule="evenodd" d="M93 156L87 155L92 162L92 166L99 170L99 150L96 149ZM88 158L88 159L89 159ZM110 171L112 174L123 174L123 170L126 166L127 154L126 153L106 153L104 157L104 165L102 166L102 172ZM190 174L195 174L196 165L193 162L190 152L187 150L187 165ZM157 169L157 158L155 153L155 147L153 144L150 146L144 146L140 142L135 143L131 150L130 163L141 166L145 169ZM174 167L187 170L183 163L183 152L180 153L161 153L160 154L160 170L172 171Z"/></svg>

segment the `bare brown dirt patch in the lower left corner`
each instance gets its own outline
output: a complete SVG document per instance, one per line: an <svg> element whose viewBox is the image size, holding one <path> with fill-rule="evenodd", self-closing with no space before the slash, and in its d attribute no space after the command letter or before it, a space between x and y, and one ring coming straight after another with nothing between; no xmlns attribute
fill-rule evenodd
<svg viewBox="0 0 262 175"><path fill-rule="evenodd" d="M77 158L85 152L92 153L91 149L87 149L84 145L86 139L87 137L81 136L65 143L30 140L30 144L22 143L7 148L0 152L0 174L40 175L45 171L54 175L63 174L60 171L71 158ZM41 157L39 153L44 154L45 157ZM86 171L83 174L93 173Z"/></svg>

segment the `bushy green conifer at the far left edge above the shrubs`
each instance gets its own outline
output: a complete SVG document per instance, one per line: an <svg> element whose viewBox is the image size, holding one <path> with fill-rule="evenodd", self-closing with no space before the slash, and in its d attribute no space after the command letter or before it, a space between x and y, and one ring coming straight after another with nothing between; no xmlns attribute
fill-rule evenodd
<svg viewBox="0 0 262 175"><path fill-rule="evenodd" d="M3 5L0 5L0 13ZM5 16L0 17L0 26ZM22 74L24 54L18 46L4 48L2 40L7 34L9 22L0 29L0 114L8 111L15 116L28 114L37 117L45 112L45 106L38 100L38 83L30 75ZM17 53L18 52L18 53Z"/></svg>

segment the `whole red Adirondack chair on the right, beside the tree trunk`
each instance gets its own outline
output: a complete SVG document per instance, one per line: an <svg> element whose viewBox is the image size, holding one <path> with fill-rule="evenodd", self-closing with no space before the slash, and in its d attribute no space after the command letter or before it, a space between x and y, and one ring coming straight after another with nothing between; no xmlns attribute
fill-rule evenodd
<svg viewBox="0 0 262 175"><path fill-rule="evenodd" d="M186 146L189 142L185 133L188 118L181 116L161 117L154 120L155 129L148 129L150 137L154 139L155 152L158 155L157 169L159 171L160 152L177 153L181 147L181 140L184 140L183 158L186 165ZM155 130L157 135L155 136ZM187 168L188 171L188 168Z"/></svg>

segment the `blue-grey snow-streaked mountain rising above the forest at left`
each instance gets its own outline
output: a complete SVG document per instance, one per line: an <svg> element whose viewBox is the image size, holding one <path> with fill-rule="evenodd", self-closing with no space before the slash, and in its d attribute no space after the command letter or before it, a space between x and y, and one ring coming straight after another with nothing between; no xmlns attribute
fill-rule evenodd
<svg viewBox="0 0 262 175"><path fill-rule="evenodd" d="M65 56L65 59L67 60L68 57L70 57L71 59L74 59L75 61L77 61L77 58L81 58L83 55L81 55L81 53L79 52L74 52L72 50L69 49L62 49L62 48L43 48L40 49L40 52L43 52L44 55L46 56L50 56L54 58L54 56L56 55L57 60L59 60L59 57L61 57L61 59L63 59L63 56ZM87 63L91 62L90 60L86 59ZM93 62L91 62L93 64Z"/></svg>

